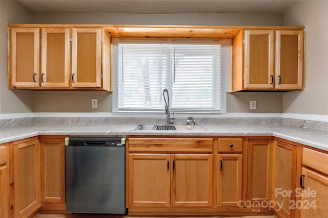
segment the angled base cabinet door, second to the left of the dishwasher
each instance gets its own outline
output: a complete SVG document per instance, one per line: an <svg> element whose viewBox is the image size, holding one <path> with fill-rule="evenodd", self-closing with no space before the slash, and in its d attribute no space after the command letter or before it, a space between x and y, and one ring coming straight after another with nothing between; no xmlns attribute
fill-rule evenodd
<svg viewBox="0 0 328 218"><path fill-rule="evenodd" d="M39 149L37 139L14 144L14 207L17 217L35 209L40 203Z"/></svg>

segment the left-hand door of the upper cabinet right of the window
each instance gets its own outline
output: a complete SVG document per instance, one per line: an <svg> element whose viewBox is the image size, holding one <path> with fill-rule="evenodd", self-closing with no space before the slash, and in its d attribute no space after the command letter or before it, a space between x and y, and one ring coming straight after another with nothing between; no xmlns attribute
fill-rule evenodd
<svg viewBox="0 0 328 218"><path fill-rule="evenodd" d="M244 88L273 89L274 31L244 32Z"/></svg>

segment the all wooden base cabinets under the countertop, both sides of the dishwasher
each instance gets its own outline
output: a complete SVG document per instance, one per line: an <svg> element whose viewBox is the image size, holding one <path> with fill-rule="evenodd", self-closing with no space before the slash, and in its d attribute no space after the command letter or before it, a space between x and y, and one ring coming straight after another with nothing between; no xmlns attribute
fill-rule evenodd
<svg viewBox="0 0 328 218"><path fill-rule="evenodd" d="M132 215L328 214L328 167L323 164L328 154L297 143L261 137L128 137L128 149ZM1 217L66 211L65 138L1 144L0 194Z"/></svg>

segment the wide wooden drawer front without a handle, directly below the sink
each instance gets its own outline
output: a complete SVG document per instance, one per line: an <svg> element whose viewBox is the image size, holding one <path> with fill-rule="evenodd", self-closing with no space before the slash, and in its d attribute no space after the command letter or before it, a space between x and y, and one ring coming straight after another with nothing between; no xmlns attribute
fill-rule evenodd
<svg viewBox="0 0 328 218"><path fill-rule="evenodd" d="M130 152L202 152L213 150L212 138L129 138Z"/></svg>

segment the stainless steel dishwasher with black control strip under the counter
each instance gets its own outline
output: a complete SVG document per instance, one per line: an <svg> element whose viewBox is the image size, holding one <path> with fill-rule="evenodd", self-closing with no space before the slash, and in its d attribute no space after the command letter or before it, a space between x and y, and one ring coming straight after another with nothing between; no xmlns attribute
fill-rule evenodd
<svg viewBox="0 0 328 218"><path fill-rule="evenodd" d="M65 160L68 212L126 213L124 137L70 137Z"/></svg>

